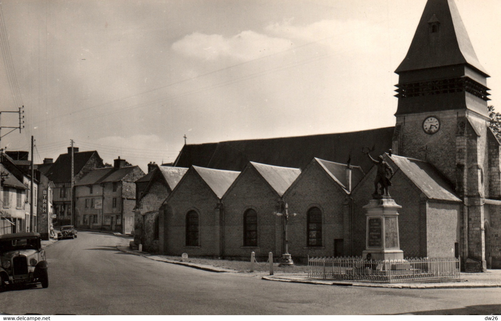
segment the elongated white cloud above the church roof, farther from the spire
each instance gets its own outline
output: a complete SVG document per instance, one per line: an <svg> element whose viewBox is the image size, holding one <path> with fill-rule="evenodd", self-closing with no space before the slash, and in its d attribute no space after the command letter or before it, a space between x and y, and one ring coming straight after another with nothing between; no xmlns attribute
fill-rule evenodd
<svg viewBox="0 0 501 321"><path fill-rule="evenodd" d="M172 44L176 52L209 61L218 58L250 61L292 47L293 43L288 39L269 37L250 30L231 38L195 32Z"/></svg>

